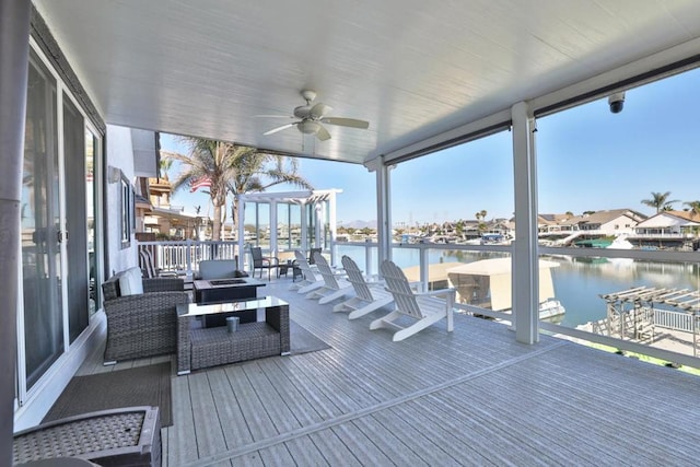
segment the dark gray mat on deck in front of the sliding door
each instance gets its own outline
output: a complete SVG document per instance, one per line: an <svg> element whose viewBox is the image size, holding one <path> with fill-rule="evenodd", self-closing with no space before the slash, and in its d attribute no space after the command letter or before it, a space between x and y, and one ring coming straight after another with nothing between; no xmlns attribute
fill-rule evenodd
<svg viewBox="0 0 700 467"><path fill-rule="evenodd" d="M132 406L158 406L161 425L173 424L170 362L73 376L43 422Z"/></svg>

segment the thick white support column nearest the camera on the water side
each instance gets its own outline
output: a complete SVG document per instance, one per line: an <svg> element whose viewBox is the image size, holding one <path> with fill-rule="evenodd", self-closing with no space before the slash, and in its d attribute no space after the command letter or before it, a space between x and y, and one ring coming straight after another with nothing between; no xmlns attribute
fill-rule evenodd
<svg viewBox="0 0 700 467"><path fill-rule="evenodd" d="M518 342L539 341L539 258L537 244L537 166L535 118L526 103L515 104L513 173L515 174L515 244L512 288L513 325Z"/></svg>

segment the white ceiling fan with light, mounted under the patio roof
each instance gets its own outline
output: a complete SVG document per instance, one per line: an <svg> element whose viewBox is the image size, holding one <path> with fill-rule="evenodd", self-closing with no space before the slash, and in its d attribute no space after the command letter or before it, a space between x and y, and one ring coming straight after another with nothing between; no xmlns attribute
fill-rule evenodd
<svg viewBox="0 0 700 467"><path fill-rule="evenodd" d="M268 130L262 135L272 135L291 127L296 127L296 129L299 129L299 131L301 131L302 133L315 135L316 138L318 138L320 141L326 141L330 139L330 133L328 132L328 130L326 130L322 122L360 129L368 129L370 127L370 124L364 120L358 120L354 118L328 117L327 114L332 110L332 107L322 102L312 105L312 103L316 98L316 93L314 91L302 91L302 97L304 97L304 100L306 101L306 105L300 105L299 107L294 108L293 117L284 115L257 115L257 117L283 117L299 119L298 121L292 121L291 124L284 124L280 127L272 128L271 130Z"/></svg>

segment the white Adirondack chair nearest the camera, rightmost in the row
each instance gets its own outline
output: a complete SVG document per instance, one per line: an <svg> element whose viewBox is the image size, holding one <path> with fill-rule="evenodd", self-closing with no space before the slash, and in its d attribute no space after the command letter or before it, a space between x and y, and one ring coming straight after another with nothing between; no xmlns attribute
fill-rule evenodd
<svg viewBox="0 0 700 467"><path fill-rule="evenodd" d="M454 330L453 305L456 295L455 289L417 293L411 290L411 284L406 279L404 271L394 262L385 260L380 269L386 281L386 290L394 295L396 310L384 317L373 320L370 324L370 329L397 329L394 332L393 340L395 342L404 340L443 318L447 318L447 331L452 332ZM444 300L439 297L444 297ZM415 323L404 327L397 323L401 318L411 318Z"/></svg>

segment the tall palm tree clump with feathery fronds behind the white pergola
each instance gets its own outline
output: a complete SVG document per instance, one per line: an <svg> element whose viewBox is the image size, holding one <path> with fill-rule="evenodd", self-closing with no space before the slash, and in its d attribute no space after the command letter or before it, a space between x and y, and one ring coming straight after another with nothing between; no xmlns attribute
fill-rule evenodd
<svg viewBox="0 0 700 467"><path fill-rule="evenodd" d="M299 173L299 161L279 154L268 154L255 148L213 141L203 138L182 137L187 154L165 153L166 157L179 161L184 171L173 183L173 191L205 183L214 207L212 240L221 238L221 214L226 196L265 191L278 184L291 184L300 188L313 186ZM232 213L236 231L237 200L234 198Z"/></svg>

